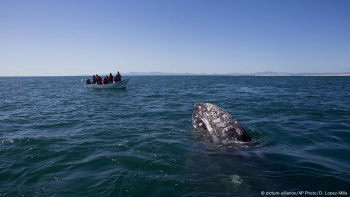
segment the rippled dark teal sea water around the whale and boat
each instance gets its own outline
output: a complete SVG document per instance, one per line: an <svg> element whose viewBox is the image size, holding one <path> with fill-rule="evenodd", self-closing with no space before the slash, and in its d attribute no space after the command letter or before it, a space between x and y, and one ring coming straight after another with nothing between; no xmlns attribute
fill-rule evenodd
<svg viewBox="0 0 350 197"><path fill-rule="evenodd" d="M0 195L350 193L350 77L0 77ZM194 132L193 104L229 111L253 142Z"/></svg>

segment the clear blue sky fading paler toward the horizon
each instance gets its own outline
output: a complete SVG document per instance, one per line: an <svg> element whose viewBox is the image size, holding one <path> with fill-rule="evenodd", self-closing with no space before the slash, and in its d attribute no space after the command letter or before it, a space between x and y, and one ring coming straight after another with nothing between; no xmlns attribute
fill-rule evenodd
<svg viewBox="0 0 350 197"><path fill-rule="evenodd" d="M349 0L0 0L0 76L349 72Z"/></svg>

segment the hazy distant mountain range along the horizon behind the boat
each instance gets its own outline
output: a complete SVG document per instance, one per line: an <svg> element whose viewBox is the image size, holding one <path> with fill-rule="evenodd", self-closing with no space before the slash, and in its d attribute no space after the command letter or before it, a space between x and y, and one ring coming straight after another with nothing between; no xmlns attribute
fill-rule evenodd
<svg viewBox="0 0 350 197"><path fill-rule="evenodd" d="M101 74L101 76L105 76L107 74ZM109 75L109 74L108 74ZM253 73L225 73L225 74L219 74L219 73L191 73L191 72L125 72L121 75L126 76L143 76L143 75L239 75L239 76L350 76L350 72L272 72L272 71L265 71L265 72L253 72ZM87 74L81 74L79 76L87 76Z"/></svg>

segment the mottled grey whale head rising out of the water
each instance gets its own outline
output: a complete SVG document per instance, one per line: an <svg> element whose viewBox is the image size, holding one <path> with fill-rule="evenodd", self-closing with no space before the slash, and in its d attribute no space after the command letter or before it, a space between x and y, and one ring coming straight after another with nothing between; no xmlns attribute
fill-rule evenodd
<svg viewBox="0 0 350 197"><path fill-rule="evenodd" d="M193 108L192 124L195 130L206 130L225 140L251 141L244 128L223 108L203 102L194 104Z"/></svg>

